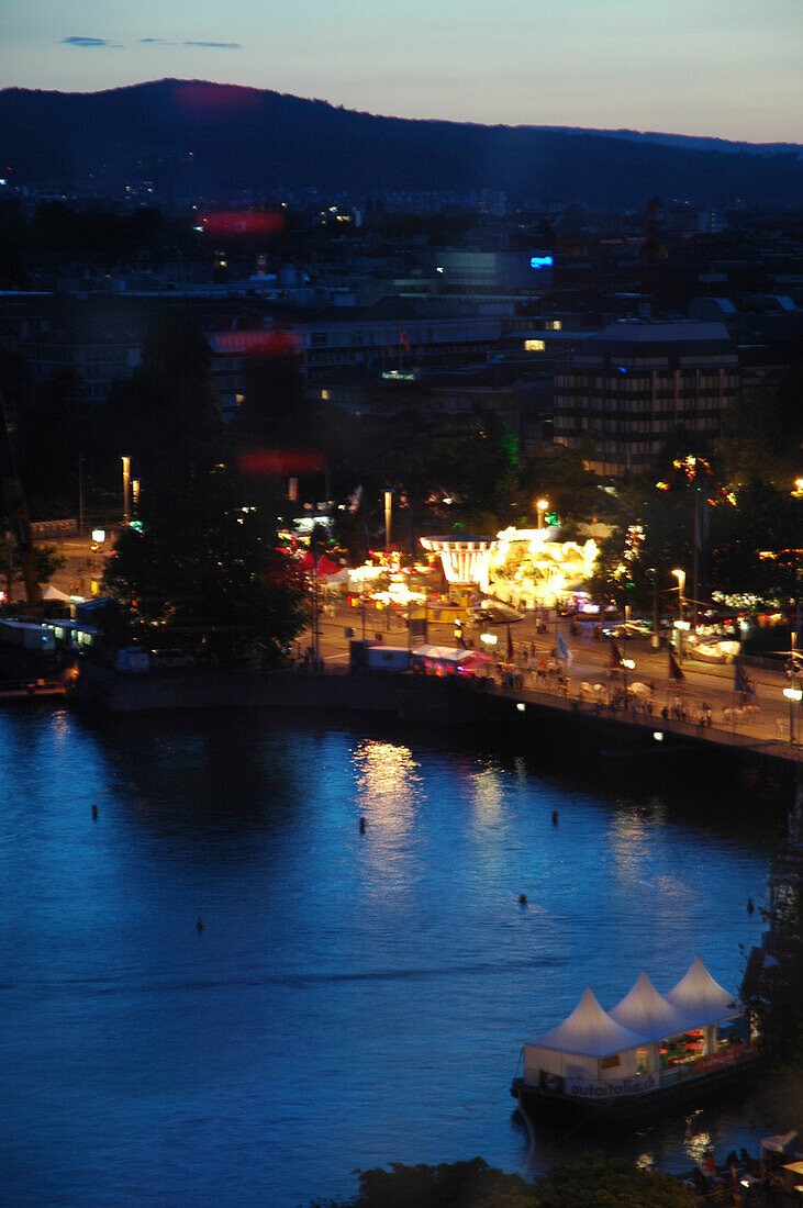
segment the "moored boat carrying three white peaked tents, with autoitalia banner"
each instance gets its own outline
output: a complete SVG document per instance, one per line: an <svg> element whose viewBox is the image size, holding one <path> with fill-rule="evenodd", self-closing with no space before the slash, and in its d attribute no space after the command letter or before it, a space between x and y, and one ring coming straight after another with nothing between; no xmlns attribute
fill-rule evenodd
<svg viewBox="0 0 803 1208"><path fill-rule="evenodd" d="M654 1115L733 1087L758 1062L744 1006L699 957L667 994L646 972L611 1011L590 987L561 1023L522 1049L512 1094L531 1113Z"/></svg>

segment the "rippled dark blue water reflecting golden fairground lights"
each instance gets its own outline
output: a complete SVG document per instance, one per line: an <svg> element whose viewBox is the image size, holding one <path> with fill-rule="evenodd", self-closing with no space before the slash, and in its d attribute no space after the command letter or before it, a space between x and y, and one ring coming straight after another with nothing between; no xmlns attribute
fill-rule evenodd
<svg viewBox="0 0 803 1208"><path fill-rule="evenodd" d="M772 836L704 768L603 784L571 749L545 771L258 712L7 712L0 749L2 1204L293 1208L390 1161L523 1172L523 1040L697 952L735 989L761 931ZM750 1125L618 1145L686 1171L709 1140L756 1152ZM529 1169L586 1140L541 1129Z"/></svg>

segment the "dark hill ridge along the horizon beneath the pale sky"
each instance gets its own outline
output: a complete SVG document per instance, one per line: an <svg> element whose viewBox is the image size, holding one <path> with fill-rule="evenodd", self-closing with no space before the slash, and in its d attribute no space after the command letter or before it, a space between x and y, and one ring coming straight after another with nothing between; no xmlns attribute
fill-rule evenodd
<svg viewBox="0 0 803 1208"><path fill-rule="evenodd" d="M710 144L714 143L715 147ZM702 144L702 145L700 145ZM749 150L745 150L749 149ZM726 150L727 149L727 150ZM161 80L98 93L0 92L0 163L12 182L175 196L484 187L543 205L799 205L801 147L639 132L379 117L289 94Z"/></svg>

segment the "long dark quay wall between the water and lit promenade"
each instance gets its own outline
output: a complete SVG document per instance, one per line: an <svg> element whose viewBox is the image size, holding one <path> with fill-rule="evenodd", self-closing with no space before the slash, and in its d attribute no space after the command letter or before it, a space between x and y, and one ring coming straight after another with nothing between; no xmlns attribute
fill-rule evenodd
<svg viewBox="0 0 803 1208"><path fill-rule="evenodd" d="M392 672L360 674L175 668L121 673L82 666L68 699L109 713L157 709L266 708L395 718L406 722L482 727L526 748L572 744L607 760L673 759L685 755L752 763L790 782L801 771L801 750L761 742L735 728L700 727L647 714L609 712L549 692L502 687L489 680Z"/></svg>

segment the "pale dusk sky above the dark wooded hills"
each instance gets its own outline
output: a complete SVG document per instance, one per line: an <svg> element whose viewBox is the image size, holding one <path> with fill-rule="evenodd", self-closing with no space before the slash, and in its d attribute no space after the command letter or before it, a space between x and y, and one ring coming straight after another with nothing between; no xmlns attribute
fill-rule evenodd
<svg viewBox="0 0 803 1208"><path fill-rule="evenodd" d="M803 0L0 0L2 86L214 80L398 117L803 140Z"/></svg>

